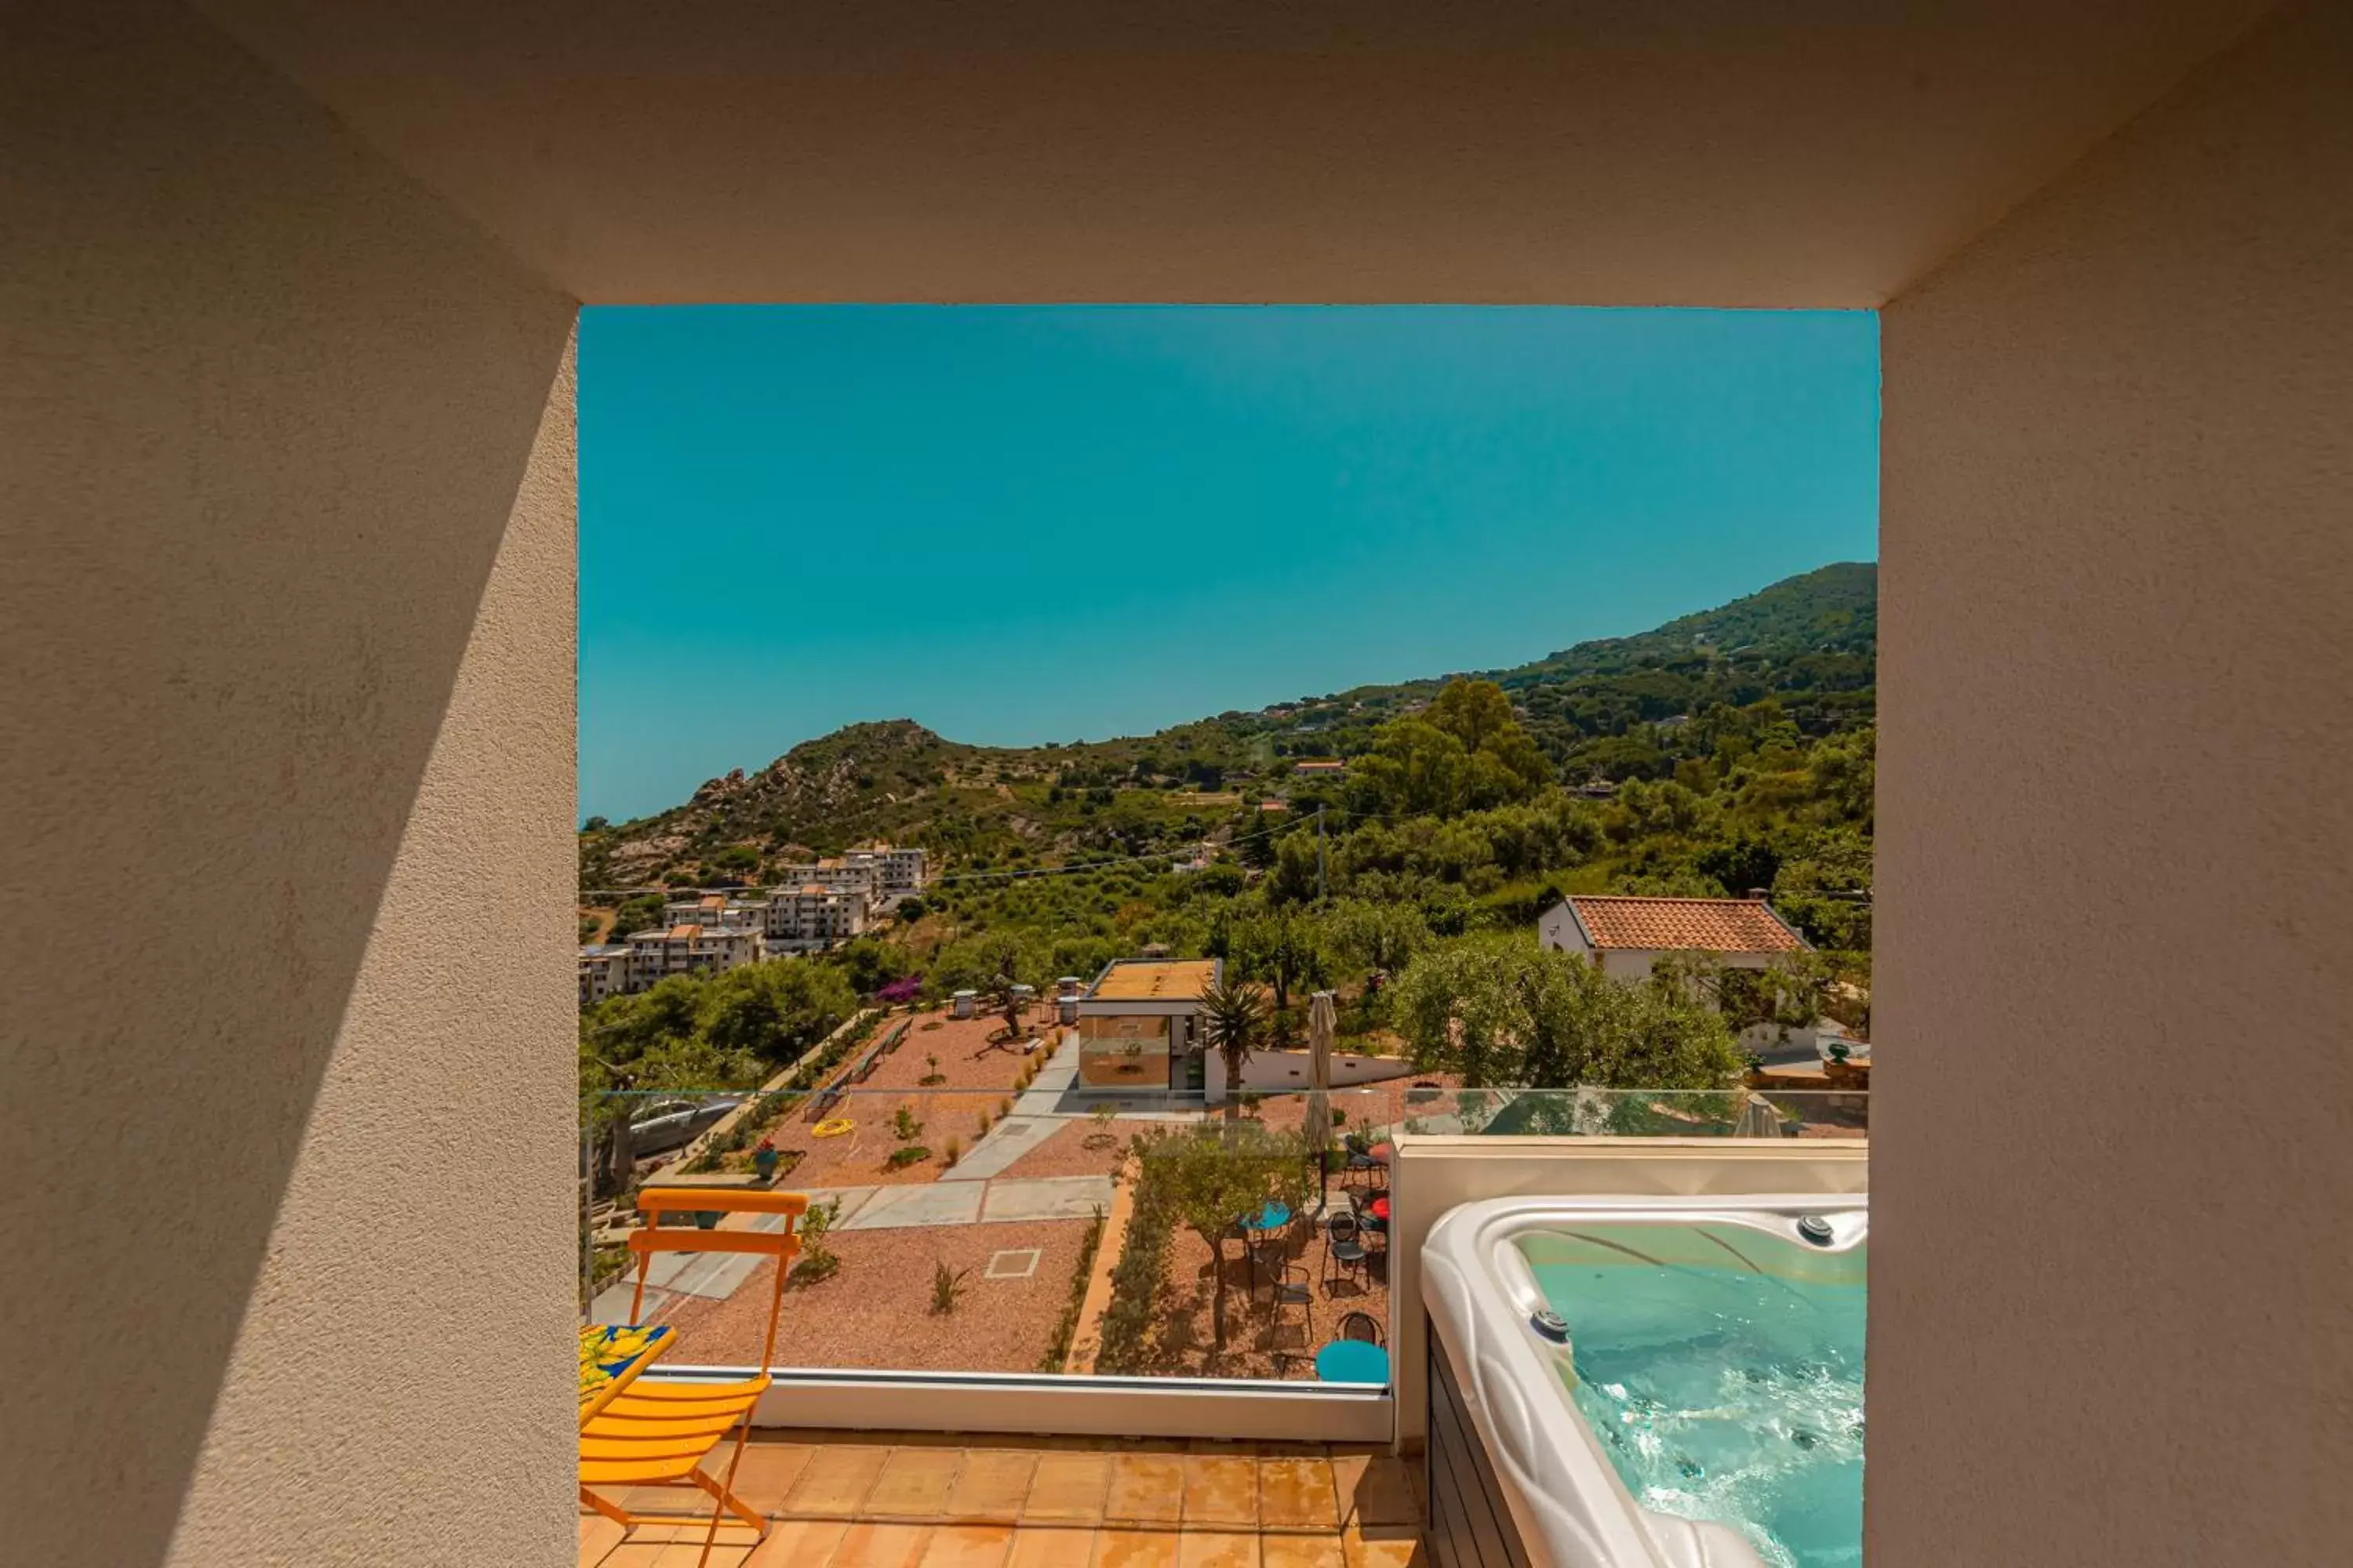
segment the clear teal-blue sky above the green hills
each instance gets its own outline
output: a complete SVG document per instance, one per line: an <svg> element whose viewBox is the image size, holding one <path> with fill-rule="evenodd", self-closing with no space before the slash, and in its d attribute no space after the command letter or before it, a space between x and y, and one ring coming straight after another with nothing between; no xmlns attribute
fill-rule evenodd
<svg viewBox="0 0 2353 1568"><path fill-rule="evenodd" d="M856 719L1026 745L1878 557L1878 317L581 315L581 813Z"/></svg>

